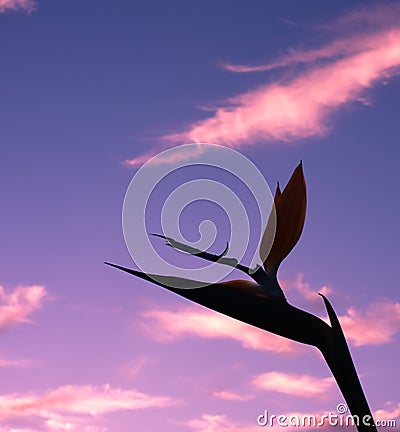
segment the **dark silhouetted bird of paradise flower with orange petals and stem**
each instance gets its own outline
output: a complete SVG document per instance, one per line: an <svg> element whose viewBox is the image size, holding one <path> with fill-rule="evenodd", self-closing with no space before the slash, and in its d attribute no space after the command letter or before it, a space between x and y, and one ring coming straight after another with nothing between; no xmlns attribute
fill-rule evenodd
<svg viewBox="0 0 400 432"><path fill-rule="evenodd" d="M227 258L228 245L222 254L214 255L170 237L153 234L165 239L167 244L175 249L207 261L234 267L250 276L254 282L233 280L204 286L204 283L191 279L151 275L108 262L106 264L247 324L318 348L355 418L358 431L376 432L371 410L332 305L323 294L319 294L328 313L329 325L317 316L289 304L277 279L279 265L294 248L303 231L306 205L306 183L300 162L284 190L280 190L279 183L277 185L274 197L275 214L271 212L260 245L263 267L258 266L255 269L240 264L235 258ZM269 250L268 238L273 223L276 223L275 237ZM199 286L201 287L198 288ZM195 289L188 289L192 287Z"/></svg>

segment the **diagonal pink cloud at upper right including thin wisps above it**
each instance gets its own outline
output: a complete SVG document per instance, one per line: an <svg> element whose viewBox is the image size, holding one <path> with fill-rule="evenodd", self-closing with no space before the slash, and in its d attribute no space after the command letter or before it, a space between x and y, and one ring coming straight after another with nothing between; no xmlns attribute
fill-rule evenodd
<svg viewBox="0 0 400 432"><path fill-rule="evenodd" d="M375 17L379 22L373 26ZM366 25L368 20L370 25ZM234 95L212 110L210 117L164 139L174 144L208 142L237 148L260 141L292 143L326 135L333 113L350 103L368 103L368 89L399 74L398 22L400 8L396 5L359 9L333 23L340 26L341 37L332 37L323 46L293 48L259 66L225 65L235 72L290 68L291 78L271 78L268 84ZM146 158L149 155L141 155L127 164L141 164Z"/></svg>

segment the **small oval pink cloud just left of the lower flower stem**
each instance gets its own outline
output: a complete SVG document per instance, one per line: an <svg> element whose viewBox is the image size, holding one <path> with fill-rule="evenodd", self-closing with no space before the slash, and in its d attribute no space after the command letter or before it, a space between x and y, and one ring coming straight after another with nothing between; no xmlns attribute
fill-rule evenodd
<svg viewBox="0 0 400 432"><path fill-rule="evenodd" d="M292 375L282 372L267 372L258 375L253 384L262 390L275 391L300 397L321 398L331 390L335 380L316 378L310 375Z"/></svg>

